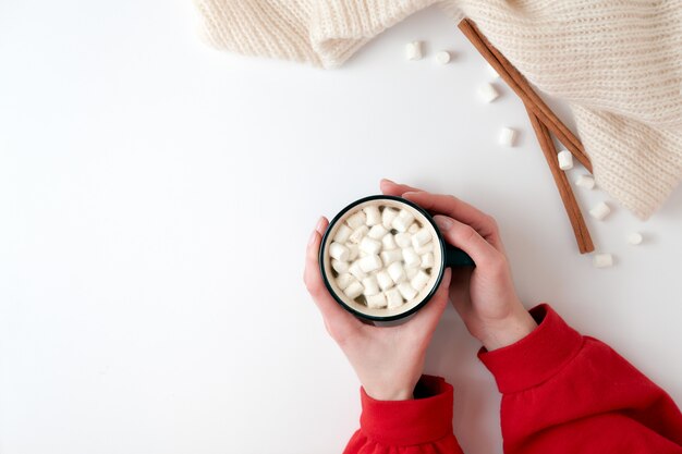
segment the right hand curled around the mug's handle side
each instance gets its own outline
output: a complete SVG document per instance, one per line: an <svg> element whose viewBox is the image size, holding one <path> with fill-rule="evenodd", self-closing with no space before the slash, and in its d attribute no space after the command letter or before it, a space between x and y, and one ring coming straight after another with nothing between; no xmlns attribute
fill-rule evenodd
<svg viewBox="0 0 682 454"><path fill-rule="evenodd" d="M488 351L511 345L536 327L511 278L495 219L448 195L381 181L383 194L404 197L435 216L446 241L468 254L476 268L453 270L450 298L473 336Z"/></svg>

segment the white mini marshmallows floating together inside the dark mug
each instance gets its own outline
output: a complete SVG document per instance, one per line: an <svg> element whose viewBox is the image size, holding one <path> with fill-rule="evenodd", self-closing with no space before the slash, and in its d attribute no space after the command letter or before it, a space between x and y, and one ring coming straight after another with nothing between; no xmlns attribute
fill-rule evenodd
<svg viewBox="0 0 682 454"><path fill-rule="evenodd" d="M354 247L360 255L352 254ZM331 237L330 278L358 305L397 309L417 303L434 285L439 247L433 226L412 210L390 200L363 204L345 214Z"/></svg>

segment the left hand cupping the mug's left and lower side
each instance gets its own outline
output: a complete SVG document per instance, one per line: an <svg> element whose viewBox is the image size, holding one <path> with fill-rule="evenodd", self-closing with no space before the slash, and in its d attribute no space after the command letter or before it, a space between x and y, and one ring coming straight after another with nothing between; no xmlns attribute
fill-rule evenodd
<svg viewBox="0 0 682 454"><path fill-rule="evenodd" d="M448 304L450 272L431 300L411 320L394 327L364 323L333 299L322 282L318 254L329 221L321 218L308 242L304 281L322 315L325 327L339 344L365 389L379 401L412 398L422 376L426 348Z"/></svg>

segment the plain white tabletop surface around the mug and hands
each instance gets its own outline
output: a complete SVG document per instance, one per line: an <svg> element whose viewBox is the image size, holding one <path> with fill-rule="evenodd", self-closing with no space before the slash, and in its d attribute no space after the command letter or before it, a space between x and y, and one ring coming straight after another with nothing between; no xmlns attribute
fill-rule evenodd
<svg viewBox="0 0 682 454"><path fill-rule="evenodd" d="M528 307L550 302L682 402L680 191L646 223L588 220L617 258L596 270L522 105L501 82L480 102L483 60L438 10L336 71L210 50L192 14L0 5L0 452L340 452L358 383L303 254L319 214L382 176L494 214ZM413 39L455 58L406 62ZM519 147L497 145L503 125ZM449 308L426 369L455 386L465 452L500 453L477 348Z"/></svg>

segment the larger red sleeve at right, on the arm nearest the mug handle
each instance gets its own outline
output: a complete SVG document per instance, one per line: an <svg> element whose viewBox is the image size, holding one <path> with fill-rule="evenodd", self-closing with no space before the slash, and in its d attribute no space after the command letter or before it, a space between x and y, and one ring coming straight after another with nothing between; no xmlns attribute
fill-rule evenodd
<svg viewBox="0 0 682 454"><path fill-rule="evenodd" d="M482 351L502 393L507 454L682 453L682 415L665 391L547 305L538 328Z"/></svg>

